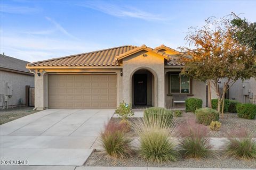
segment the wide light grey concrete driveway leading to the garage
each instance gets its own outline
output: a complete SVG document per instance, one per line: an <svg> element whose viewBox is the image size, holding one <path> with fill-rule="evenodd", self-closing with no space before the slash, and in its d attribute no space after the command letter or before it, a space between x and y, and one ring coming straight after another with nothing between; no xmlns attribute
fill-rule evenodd
<svg viewBox="0 0 256 170"><path fill-rule="evenodd" d="M114 109L47 109L0 126L1 160L82 166Z"/></svg>

